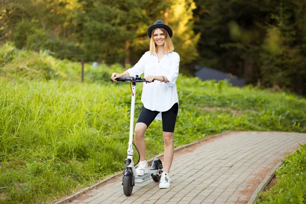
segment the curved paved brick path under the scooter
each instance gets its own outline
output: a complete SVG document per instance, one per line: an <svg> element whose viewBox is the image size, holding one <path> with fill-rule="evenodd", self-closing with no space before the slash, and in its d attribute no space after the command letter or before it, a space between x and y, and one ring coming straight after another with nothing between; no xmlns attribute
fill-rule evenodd
<svg viewBox="0 0 306 204"><path fill-rule="evenodd" d="M169 189L159 189L149 180L135 184L126 197L120 176L71 203L247 203L268 172L298 143L306 143L306 134L222 134L175 152Z"/></svg>

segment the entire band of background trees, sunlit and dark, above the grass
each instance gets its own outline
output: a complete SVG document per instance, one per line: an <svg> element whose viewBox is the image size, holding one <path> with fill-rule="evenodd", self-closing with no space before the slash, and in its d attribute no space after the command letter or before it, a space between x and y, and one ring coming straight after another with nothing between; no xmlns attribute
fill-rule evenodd
<svg viewBox="0 0 306 204"><path fill-rule="evenodd" d="M148 50L149 25L162 19L173 29L182 73L192 75L196 64L306 94L303 0L18 0L2 7L0 21L22 9L0 33L18 48L129 66Z"/></svg>

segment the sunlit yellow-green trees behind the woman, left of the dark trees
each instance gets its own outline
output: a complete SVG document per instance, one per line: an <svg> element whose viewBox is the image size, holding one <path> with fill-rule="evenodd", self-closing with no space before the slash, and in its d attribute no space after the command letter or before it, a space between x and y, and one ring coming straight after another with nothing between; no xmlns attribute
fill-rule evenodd
<svg viewBox="0 0 306 204"><path fill-rule="evenodd" d="M149 48L146 30L156 20L169 22L181 64L197 58L199 34L193 32L188 1L20 0L8 12L23 8L3 29L2 37L18 48L50 50L60 59L135 64ZM182 66L182 70L185 67Z"/></svg>

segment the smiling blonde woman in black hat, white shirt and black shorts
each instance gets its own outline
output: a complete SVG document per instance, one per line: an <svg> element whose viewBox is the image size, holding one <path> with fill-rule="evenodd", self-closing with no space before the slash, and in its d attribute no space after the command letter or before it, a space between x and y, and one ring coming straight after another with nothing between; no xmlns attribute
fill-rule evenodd
<svg viewBox="0 0 306 204"><path fill-rule="evenodd" d="M173 52L172 30L162 20L157 20L151 25L147 30L147 35L150 38L150 50L140 58L134 67L120 74L112 73L112 80L117 82L117 78L135 77L144 73L144 78L149 81L149 83L143 83L141 96L143 107L135 125L135 144L140 153L140 163L136 171L138 175L143 175L148 171L144 133L150 123L161 113L165 149L159 187L169 188L169 171L174 154L173 132L179 111L179 97L175 81L179 74L180 56Z"/></svg>

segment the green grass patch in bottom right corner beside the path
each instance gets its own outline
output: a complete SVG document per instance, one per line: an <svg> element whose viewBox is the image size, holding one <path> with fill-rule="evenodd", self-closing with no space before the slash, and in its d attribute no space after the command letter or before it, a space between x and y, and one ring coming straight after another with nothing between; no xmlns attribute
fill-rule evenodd
<svg viewBox="0 0 306 204"><path fill-rule="evenodd" d="M277 169L277 183L261 192L256 203L305 203L306 201L306 145L285 158Z"/></svg>

